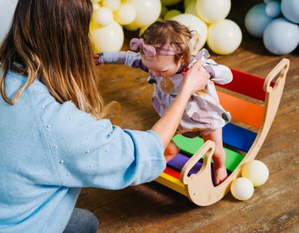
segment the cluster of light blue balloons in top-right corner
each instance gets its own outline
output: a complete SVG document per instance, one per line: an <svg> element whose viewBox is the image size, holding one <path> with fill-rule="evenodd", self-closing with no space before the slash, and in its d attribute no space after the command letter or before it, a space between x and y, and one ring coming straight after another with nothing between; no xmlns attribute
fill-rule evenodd
<svg viewBox="0 0 299 233"><path fill-rule="evenodd" d="M299 0L264 0L246 14L248 32L263 38L273 54L284 55L299 44Z"/></svg>

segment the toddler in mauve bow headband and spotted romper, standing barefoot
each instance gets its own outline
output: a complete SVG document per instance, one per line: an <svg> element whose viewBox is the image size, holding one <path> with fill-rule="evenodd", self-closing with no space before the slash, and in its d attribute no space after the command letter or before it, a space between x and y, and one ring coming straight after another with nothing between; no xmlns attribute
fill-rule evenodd
<svg viewBox="0 0 299 233"><path fill-rule="evenodd" d="M190 96L177 133L191 138L202 136L204 141L215 142L212 158L215 184L219 185L227 177L222 127L231 117L219 104L214 82L226 84L233 77L229 68L208 59L209 53L206 49L202 49L195 56L191 55L191 38L190 30L176 21L156 21L145 30L141 39L131 40L130 48L140 49L140 53L104 52L99 54L100 57L95 57L95 61L97 65L124 64L148 72L148 82L154 84L152 104L160 116L176 97L188 68L199 61L201 70L210 75L210 82L204 90ZM178 152L178 147L171 141L164 153L174 156Z"/></svg>

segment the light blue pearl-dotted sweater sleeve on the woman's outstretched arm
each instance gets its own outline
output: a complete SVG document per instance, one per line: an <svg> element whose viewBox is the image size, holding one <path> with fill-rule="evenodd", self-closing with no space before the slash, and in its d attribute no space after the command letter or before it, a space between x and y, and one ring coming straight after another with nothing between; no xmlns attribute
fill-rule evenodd
<svg viewBox="0 0 299 233"><path fill-rule="evenodd" d="M58 180L53 185L121 189L155 179L165 168L153 131L123 130L68 101L44 100L40 112Z"/></svg>

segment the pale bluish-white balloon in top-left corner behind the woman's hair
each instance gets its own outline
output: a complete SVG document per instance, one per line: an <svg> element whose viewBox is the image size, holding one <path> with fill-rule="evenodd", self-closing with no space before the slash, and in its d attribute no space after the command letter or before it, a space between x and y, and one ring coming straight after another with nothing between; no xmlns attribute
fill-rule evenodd
<svg viewBox="0 0 299 233"><path fill-rule="evenodd" d="M18 0L0 0L0 43L6 36Z"/></svg>

